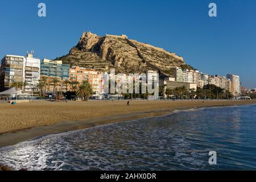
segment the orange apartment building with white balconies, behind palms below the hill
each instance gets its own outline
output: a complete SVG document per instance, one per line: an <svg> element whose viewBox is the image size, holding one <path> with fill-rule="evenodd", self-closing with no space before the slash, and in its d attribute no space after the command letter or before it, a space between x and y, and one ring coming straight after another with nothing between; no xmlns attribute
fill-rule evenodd
<svg viewBox="0 0 256 182"><path fill-rule="evenodd" d="M81 83L83 80L88 81L92 85L94 94L104 92L102 72L82 67L72 67L69 69L69 81L78 81Z"/></svg>

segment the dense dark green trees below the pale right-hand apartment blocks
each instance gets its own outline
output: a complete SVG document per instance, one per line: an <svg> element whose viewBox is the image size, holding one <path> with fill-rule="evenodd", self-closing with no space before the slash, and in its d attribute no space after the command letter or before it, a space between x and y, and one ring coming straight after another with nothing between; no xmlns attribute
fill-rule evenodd
<svg viewBox="0 0 256 182"><path fill-rule="evenodd" d="M166 95L176 99L232 99L233 95L228 91L216 85L205 85L203 88L187 89L185 86L175 89L166 89ZM174 97L173 97L174 96Z"/></svg>

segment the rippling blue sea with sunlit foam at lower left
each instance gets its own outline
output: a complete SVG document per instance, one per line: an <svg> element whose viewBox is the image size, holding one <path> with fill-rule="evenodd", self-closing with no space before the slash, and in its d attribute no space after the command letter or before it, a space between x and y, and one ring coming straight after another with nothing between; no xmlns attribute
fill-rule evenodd
<svg viewBox="0 0 256 182"><path fill-rule="evenodd" d="M256 105L175 111L0 148L27 170L256 170Z"/></svg>

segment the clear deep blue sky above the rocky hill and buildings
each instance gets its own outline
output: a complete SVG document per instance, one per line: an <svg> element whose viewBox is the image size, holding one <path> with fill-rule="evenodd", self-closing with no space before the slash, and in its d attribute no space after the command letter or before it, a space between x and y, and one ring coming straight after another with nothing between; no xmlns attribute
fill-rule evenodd
<svg viewBox="0 0 256 182"><path fill-rule="evenodd" d="M38 4L47 16L39 18ZM217 4L210 18L208 5ZM126 34L183 56L210 75L234 73L256 88L255 0L23 0L0 2L0 56L55 59L75 46L83 31Z"/></svg>

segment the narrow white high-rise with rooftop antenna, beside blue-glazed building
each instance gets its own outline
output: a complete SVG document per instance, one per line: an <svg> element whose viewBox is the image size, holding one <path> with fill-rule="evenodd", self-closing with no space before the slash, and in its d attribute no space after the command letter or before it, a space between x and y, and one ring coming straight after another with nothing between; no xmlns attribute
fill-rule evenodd
<svg viewBox="0 0 256 182"><path fill-rule="evenodd" d="M40 78L40 59L33 57L33 53L27 53L23 62L23 82L24 93L35 94L38 92L38 82Z"/></svg>

